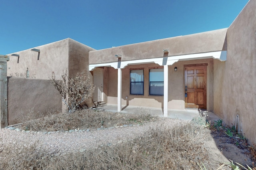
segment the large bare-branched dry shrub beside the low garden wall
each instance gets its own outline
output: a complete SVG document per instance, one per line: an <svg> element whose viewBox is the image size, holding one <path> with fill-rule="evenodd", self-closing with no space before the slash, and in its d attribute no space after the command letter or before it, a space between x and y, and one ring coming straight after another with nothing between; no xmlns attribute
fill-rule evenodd
<svg viewBox="0 0 256 170"><path fill-rule="evenodd" d="M90 82L90 78L86 78L82 74L76 74L75 78L70 78L65 70L61 77L62 81L56 80L55 74L52 72L50 82L60 92L62 101L68 107L68 112L72 113L80 107L84 100L92 96L95 87Z"/></svg>

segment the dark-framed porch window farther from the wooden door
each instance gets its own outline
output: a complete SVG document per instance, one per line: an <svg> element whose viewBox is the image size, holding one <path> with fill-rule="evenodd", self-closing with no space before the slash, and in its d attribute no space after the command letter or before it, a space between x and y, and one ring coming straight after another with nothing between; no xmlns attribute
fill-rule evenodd
<svg viewBox="0 0 256 170"><path fill-rule="evenodd" d="M144 95L143 70L130 70L130 94Z"/></svg>

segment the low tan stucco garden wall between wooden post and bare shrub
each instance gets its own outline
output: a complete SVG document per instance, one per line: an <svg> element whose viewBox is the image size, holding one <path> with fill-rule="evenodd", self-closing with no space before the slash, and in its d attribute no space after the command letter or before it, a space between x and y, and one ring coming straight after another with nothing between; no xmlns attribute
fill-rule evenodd
<svg viewBox="0 0 256 170"><path fill-rule="evenodd" d="M50 80L11 77L8 79L8 123L20 123L22 116L62 111L62 99Z"/></svg>

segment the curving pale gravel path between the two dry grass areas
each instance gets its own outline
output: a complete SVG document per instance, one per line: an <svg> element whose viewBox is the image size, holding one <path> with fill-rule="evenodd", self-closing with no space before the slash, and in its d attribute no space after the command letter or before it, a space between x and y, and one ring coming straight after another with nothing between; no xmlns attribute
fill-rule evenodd
<svg viewBox="0 0 256 170"><path fill-rule="evenodd" d="M100 145L116 145L142 136L150 128L174 127L188 123L179 119L160 119L146 125L71 133L24 133L10 129L0 130L0 146L14 148L36 145L37 148L58 150L61 153L84 151Z"/></svg>

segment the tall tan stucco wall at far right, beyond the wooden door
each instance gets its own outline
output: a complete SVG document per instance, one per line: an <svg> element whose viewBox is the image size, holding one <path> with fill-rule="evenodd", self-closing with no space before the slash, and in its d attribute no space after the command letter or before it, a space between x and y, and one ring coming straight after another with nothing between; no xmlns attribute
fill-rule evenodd
<svg viewBox="0 0 256 170"><path fill-rule="evenodd" d="M227 61L214 61L214 113L256 143L256 1L250 0L227 31ZM237 119L238 121L238 119Z"/></svg>

